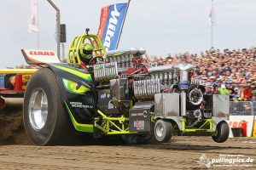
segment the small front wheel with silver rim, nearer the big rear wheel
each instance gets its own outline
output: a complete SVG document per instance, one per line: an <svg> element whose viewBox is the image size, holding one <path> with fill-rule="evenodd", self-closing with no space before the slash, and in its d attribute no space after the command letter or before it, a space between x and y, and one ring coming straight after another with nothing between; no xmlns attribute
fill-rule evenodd
<svg viewBox="0 0 256 170"><path fill-rule="evenodd" d="M158 120L154 125L154 136L160 143L169 142L172 138L172 122Z"/></svg>

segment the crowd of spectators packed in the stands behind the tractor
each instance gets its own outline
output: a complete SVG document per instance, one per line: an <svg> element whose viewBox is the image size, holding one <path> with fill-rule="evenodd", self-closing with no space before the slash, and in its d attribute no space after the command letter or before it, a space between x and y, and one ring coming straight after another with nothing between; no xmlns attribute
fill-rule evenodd
<svg viewBox="0 0 256 170"><path fill-rule="evenodd" d="M230 94L230 99L234 101L256 100L256 48L226 48L223 51L211 48L201 54L168 54L166 59L147 58L157 65L191 63L195 65L191 80L205 85L207 93Z"/></svg>

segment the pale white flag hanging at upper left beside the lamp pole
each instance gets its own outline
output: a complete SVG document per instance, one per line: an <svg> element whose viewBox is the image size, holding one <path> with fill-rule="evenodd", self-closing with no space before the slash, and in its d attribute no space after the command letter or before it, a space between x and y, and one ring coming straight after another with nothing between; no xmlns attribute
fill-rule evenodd
<svg viewBox="0 0 256 170"><path fill-rule="evenodd" d="M28 31L38 32L38 0L32 0L31 3L31 17Z"/></svg>

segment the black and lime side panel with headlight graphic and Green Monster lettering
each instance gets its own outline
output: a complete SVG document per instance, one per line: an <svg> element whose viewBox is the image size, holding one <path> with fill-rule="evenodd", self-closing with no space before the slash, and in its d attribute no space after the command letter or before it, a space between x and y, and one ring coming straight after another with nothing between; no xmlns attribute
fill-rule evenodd
<svg viewBox="0 0 256 170"><path fill-rule="evenodd" d="M90 74L78 65L49 64L49 68L55 73L63 107L70 116L73 126L79 131L92 133L97 104ZM82 93L79 89L83 89Z"/></svg>

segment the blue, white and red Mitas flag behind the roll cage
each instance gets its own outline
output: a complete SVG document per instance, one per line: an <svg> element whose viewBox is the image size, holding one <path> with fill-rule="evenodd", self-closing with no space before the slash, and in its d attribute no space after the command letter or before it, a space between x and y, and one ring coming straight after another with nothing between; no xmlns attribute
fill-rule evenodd
<svg viewBox="0 0 256 170"><path fill-rule="evenodd" d="M116 3L102 8L97 36L102 39L106 51L117 48L121 27L125 20L128 3Z"/></svg>

